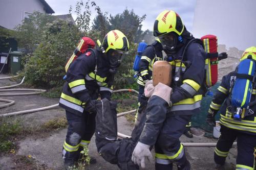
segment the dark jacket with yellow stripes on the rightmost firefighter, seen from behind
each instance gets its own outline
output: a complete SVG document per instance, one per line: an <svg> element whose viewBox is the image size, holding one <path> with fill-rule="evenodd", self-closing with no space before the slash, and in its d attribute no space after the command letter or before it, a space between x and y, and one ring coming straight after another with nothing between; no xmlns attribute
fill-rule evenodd
<svg viewBox="0 0 256 170"><path fill-rule="evenodd" d="M236 80L236 72L232 71L228 75L224 76L221 81L221 85L218 87L217 92L210 104L210 110L215 114L220 110L221 125L239 130L243 133L256 135L256 106L251 106L250 109L254 112L251 115L244 117L242 115L241 120L234 120L233 113L230 111L232 86ZM252 89L252 95L250 101L255 100L256 89ZM224 104L223 104L224 102ZM221 105L223 106L221 107ZM220 109L221 108L221 109ZM244 113L244 111L243 111Z"/></svg>

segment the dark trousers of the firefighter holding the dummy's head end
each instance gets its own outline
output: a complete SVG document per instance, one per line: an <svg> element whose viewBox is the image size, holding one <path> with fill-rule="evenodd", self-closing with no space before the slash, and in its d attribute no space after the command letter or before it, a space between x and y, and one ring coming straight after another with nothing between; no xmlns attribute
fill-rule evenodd
<svg viewBox="0 0 256 170"><path fill-rule="evenodd" d="M167 116L155 144L156 170L173 169L173 163L187 164L185 150L180 143L180 136L186 129L191 115Z"/></svg>

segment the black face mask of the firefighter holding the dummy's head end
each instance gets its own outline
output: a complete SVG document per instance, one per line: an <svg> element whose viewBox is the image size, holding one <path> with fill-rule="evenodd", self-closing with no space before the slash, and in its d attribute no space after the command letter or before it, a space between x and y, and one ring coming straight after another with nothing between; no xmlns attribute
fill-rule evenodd
<svg viewBox="0 0 256 170"><path fill-rule="evenodd" d="M163 50L173 51L177 45L177 36L174 33L168 33L159 36Z"/></svg>

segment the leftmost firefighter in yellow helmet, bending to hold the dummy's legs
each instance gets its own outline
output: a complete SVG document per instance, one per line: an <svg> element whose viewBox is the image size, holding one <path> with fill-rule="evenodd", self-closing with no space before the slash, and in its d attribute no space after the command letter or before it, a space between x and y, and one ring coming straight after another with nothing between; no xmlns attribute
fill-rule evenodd
<svg viewBox="0 0 256 170"><path fill-rule="evenodd" d="M129 51L129 42L119 30L106 34L99 46L81 54L70 65L60 96L59 106L66 110L69 124L62 150L66 169L90 143L95 130L95 100L99 96L110 100L114 74L123 54Z"/></svg>

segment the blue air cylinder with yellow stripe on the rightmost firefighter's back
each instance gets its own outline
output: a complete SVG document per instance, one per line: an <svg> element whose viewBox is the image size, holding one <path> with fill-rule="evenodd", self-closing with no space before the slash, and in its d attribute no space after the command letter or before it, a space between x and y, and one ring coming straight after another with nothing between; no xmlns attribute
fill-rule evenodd
<svg viewBox="0 0 256 170"><path fill-rule="evenodd" d="M236 120L254 113L250 106L253 106L255 101L250 102L250 99L252 89L255 88L255 66L255 60L252 59L244 59L238 65L237 78L231 91L231 109L229 109Z"/></svg>

